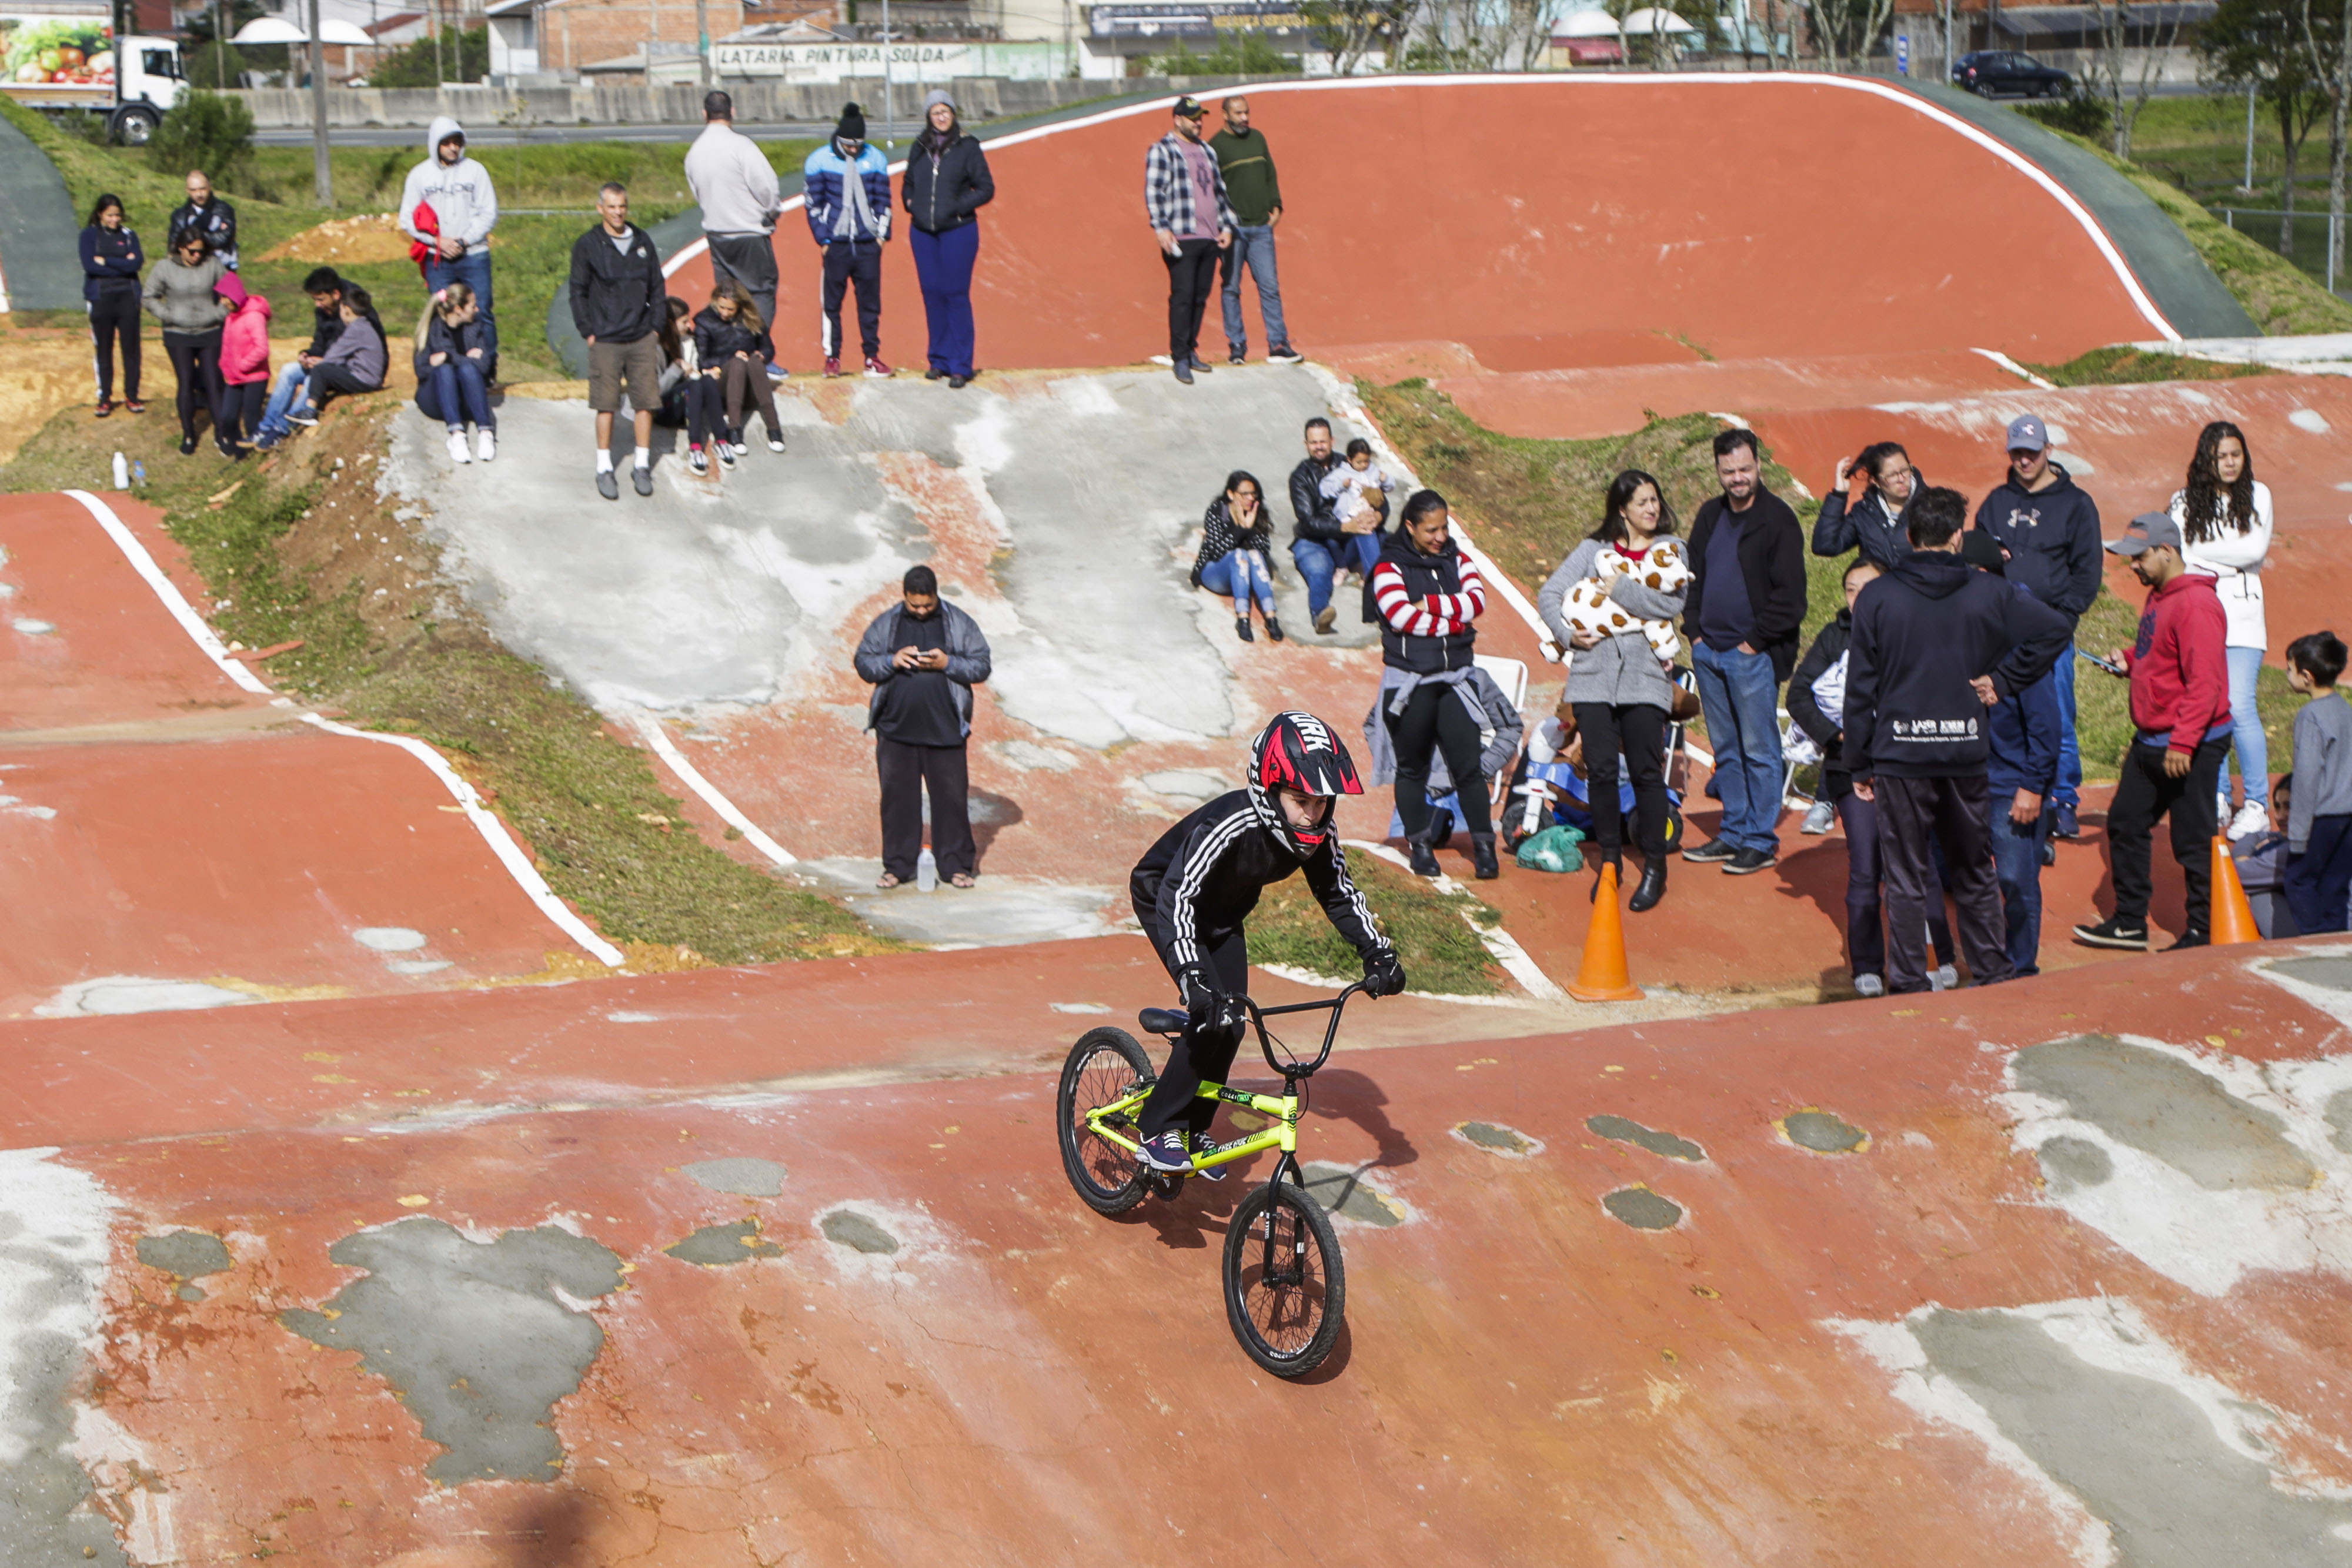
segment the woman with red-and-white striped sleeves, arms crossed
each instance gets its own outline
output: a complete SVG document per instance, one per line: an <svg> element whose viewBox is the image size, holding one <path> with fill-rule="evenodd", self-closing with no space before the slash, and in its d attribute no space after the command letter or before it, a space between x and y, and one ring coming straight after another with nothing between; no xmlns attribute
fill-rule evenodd
<svg viewBox="0 0 2352 1568"><path fill-rule="evenodd" d="M1430 811L1430 757L1446 755L1461 785L1470 860L1482 882L1501 877L1494 853L1494 811L1479 778L1479 705L1465 689L1477 649L1477 618L1486 614L1486 583L1454 543L1454 517L1435 489L1414 491L1404 527L1388 536L1371 569L1371 602L1381 616L1381 715L1397 748L1397 818L1411 867L1437 875ZM1454 818L1444 818L1451 832Z"/></svg>

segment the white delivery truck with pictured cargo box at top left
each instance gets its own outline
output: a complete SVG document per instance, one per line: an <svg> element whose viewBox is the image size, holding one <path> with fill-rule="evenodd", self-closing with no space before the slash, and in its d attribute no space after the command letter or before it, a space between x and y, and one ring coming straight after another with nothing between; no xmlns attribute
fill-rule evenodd
<svg viewBox="0 0 2352 1568"><path fill-rule="evenodd" d="M115 38L108 0L0 0L0 92L26 108L103 115L146 143L188 89L174 38Z"/></svg>

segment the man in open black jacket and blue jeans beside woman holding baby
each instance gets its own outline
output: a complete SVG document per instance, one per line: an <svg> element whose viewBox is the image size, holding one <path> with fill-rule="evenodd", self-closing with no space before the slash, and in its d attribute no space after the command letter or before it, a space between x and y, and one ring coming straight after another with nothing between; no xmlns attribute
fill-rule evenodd
<svg viewBox="0 0 2352 1568"><path fill-rule="evenodd" d="M1722 494L1691 522L1691 588L1684 635L1698 675L1698 705L1715 748L1715 783L1724 820L1712 844L1682 851L1715 860L1733 877L1780 860L1780 703L1797 668L1804 625L1804 527L1788 501L1764 487L1752 430L1715 437Z"/></svg>

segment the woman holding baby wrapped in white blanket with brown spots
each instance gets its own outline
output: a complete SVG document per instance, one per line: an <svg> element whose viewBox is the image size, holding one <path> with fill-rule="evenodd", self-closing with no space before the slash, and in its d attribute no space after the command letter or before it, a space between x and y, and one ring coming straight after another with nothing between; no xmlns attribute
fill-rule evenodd
<svg viewBox="0 0 2352 1568"><path fill-rule="evenodd" d="M1675 534L1675 508L1639 468L1609 484L1602 522L1559 562L1536 609L1569 651L1562 701L1576 712L1585 748L1585 795L1592 809L1592 865L1616 865L1625 823L1618 811L1618 755L1632 773L1642 886L1630 910L1665 898L1665 731L1675 708L1668 679L1675 621L1682 618L1689 562ZM1595 882L1595 893L1599 884Z"/></svg>

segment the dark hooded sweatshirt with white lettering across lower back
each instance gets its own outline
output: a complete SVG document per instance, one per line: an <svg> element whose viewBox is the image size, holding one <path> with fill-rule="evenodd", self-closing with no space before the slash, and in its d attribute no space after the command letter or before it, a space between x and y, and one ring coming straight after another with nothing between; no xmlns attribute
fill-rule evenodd
<svg viewBox="0 0 2352 1568"><path fill-rule="evenodd" d="M2049 675L2072 623L1950 550L1915 550L1853 602L1844 759L1856 783L1985 771L1990 715L1969 684L2006 698Z"/></svg>

